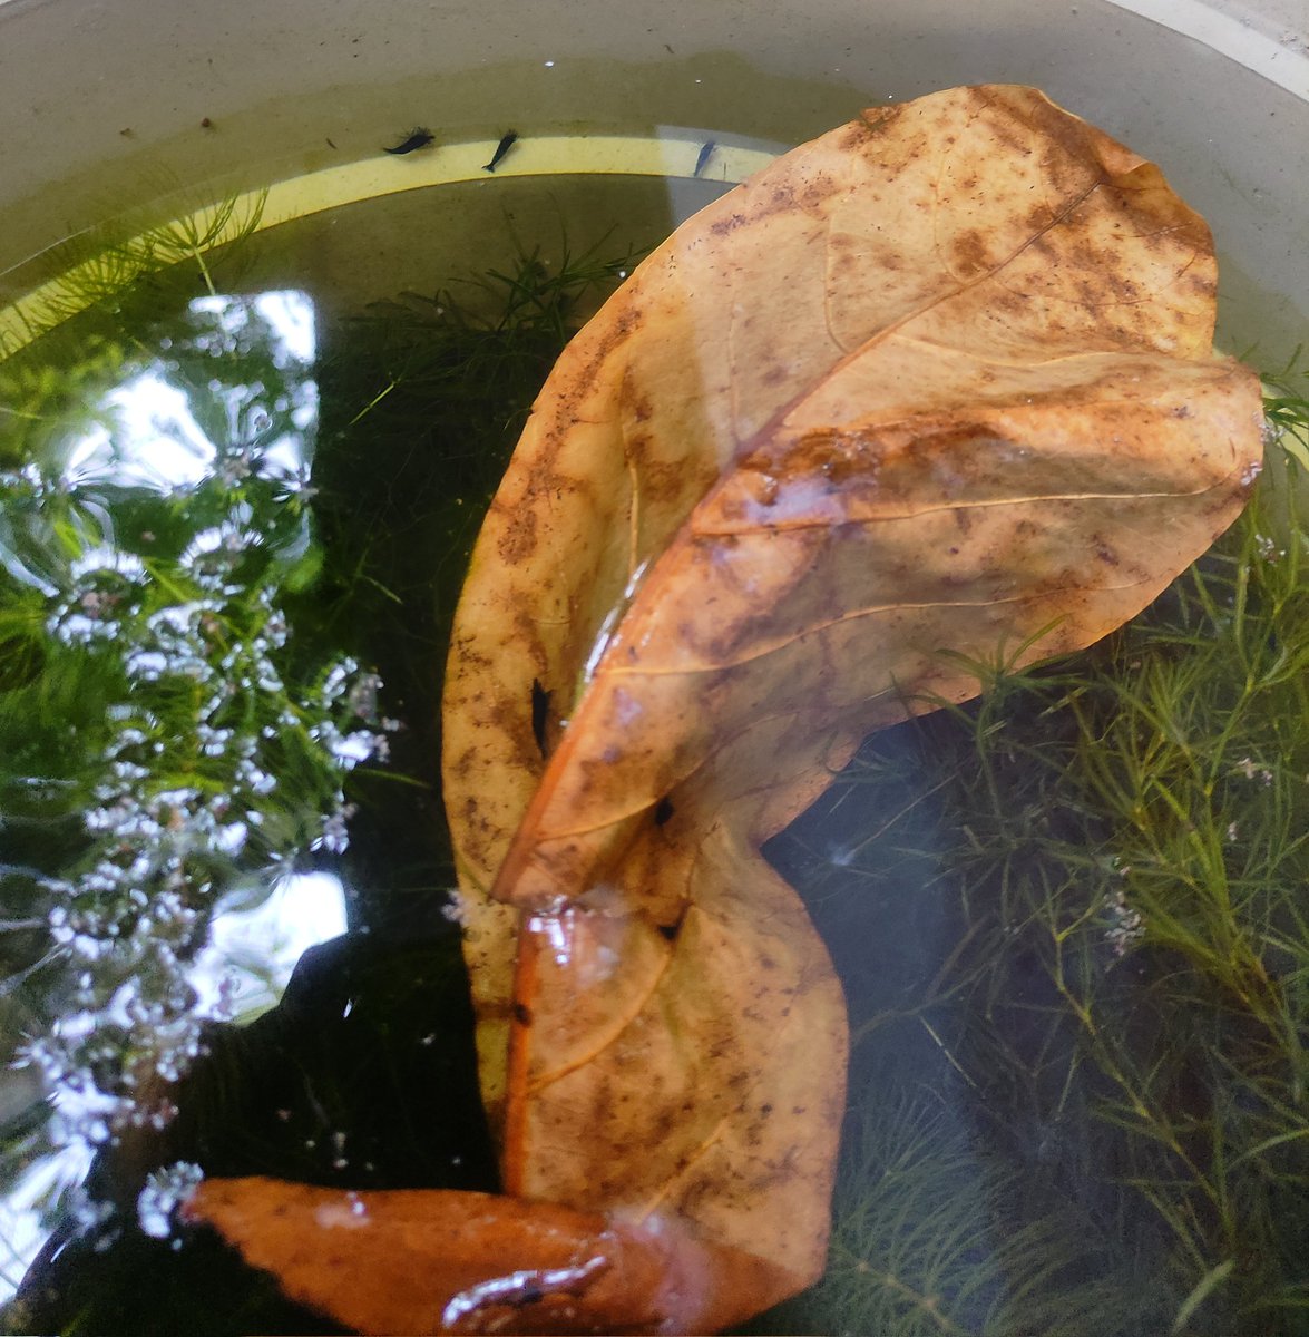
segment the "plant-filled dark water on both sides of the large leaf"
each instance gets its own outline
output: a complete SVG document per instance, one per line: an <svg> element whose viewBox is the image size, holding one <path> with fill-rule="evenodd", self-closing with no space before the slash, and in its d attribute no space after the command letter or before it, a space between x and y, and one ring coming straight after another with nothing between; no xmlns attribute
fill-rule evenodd
<svg viewBox="0 0 1309 1337"><path fill-rule="evenodd" d="M435 771L453 599L563 329L721 189L352 203L8 365L11 1285L48 1241L16 1324L328 1330L170 1234L195 1163L495 1187ZM757 1330L1294 1330L1300 551L1252 520L1074 667L876 735L770 845L856 1043L829 1274Z"/></svg>

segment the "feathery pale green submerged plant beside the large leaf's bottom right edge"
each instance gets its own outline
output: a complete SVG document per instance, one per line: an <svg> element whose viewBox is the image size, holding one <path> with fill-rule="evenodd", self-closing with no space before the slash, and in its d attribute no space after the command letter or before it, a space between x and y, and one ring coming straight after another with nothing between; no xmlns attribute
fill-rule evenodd
<svg viewBox="0 0 1309 1337"><path fill-rule="evenodd" d="M1090 1257L1070 1214L1015 1221L1019 1187L1018 1169L977 1144L948 1088L909 1094L892 1078L856 1091L828 1270L750 1330L1054 1337L1139 1320L1120 1259Z"/></svg>

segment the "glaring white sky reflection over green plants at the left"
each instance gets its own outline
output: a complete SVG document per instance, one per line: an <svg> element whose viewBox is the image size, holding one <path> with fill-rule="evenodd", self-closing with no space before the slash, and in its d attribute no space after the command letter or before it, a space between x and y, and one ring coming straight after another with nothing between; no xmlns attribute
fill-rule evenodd
<svg viewBox="0 0 1309 1337"><path fill-rule="evenodd" d="M170 1122L206 1024L345 929L341 882L297 868L345 848L342 779L397 726L291 635L314 356L279 290L96 312L0 365L0 1290L96 1147Z"/></svg>

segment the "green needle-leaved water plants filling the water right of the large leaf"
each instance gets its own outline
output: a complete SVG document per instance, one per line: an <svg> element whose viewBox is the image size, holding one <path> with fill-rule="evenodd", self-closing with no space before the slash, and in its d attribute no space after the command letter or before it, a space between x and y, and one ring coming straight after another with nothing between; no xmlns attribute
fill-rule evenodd
<svg viewBox="0 0 1309 1337"><path fill-rule="evenodd" d="M1305 400L1269 402L1277 439L1302 440ZM1038 668L973 664L977 702L872 739L771 850L804 869L842 967L853 1071L953 1092L1007 1167L1003 1238L1044 1222L1076 1242L1047 1280L1131 1281L1126 1310L965 1330L1309 1317L1309 533L1286 455L1134 623ZM874 1096L861 1116L892 1112ZM912 1219L931 1215L927 1171L919 1187ZM838 1205L837 1239L868 1219ZM1001 1270L1012 1286L1046 1267L1038 1250ZM824 1286L849 1281L834 1253ZM908 1330L951 1330L935 1317Z"/></svg>

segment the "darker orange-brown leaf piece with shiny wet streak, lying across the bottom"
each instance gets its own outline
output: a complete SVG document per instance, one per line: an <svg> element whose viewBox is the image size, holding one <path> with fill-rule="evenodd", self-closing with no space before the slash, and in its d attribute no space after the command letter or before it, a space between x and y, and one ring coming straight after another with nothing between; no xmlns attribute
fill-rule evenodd
<svg viewBox="0 0 1309 1337"><path fill-rule="evenodd" d="M361 1333L711 1332L780 1294L685 1231L483 1193L213 1179L185 1214Z"/></svg>

